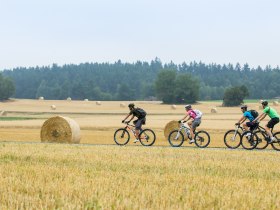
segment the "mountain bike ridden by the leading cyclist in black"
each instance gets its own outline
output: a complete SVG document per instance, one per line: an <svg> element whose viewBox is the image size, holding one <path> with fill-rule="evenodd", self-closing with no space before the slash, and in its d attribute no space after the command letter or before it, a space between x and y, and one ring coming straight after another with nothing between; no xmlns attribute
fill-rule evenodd
<svg viewBox="0 0 280 210"><path fill-rule="evenodd" d="M119 128L114 133L114 141L117 145L126 145L130 140L130 134L133 133L133 135L136 138L136 131L135 126L129 124L129 122L124 122L126 126L124 128ZM151 129L144 129L141 130L139 133L139 141L143 146L152 146L156 141L156 135L153 130Z"/></svg>

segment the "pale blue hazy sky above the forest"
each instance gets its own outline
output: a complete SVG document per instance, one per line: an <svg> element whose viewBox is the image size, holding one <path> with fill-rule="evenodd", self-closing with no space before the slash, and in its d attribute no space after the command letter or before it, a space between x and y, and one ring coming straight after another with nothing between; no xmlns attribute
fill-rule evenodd
<svg viewBox="0 0 280 210"><path fill-rule="evenodd" d="M0 70L81 62L280 65L279 0L0 0Z"/></svg>

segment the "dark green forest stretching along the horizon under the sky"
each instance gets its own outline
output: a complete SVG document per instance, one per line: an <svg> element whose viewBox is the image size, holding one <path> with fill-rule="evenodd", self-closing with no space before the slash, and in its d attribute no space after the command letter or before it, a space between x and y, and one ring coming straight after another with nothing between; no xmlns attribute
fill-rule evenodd
<svg viewBox="0 0 280 210"><path fill-rule="evenodd" d="M185 103L192 102L192 98L223 99L225 91L234 86L245 86L251 99L277 97L280 88L279 67L250 68L248 64L202 62L163 64L157 58L151 62L123 63L119 60L115 63L20 67L4 70L2 74L14 83L13 97L29 99L40 96L76 100L158 98L166 103ZM166 90L169 96L163 96L161 90Z"/></svg>

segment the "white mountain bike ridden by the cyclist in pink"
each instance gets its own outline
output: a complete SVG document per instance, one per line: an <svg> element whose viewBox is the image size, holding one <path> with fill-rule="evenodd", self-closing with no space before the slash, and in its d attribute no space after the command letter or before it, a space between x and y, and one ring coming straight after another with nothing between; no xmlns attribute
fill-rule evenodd
<svg viewBox="0 0 280 210"><path fill-rule="evenodd" d="M184 124L185 122L186 121L180 123L179 130L173 130L170 132L168 136L168 142L172 147L180 147L184 143L185 137L182 133L182 130L185 131L188 139L191 139L190 128ZM210 136L206 131L194 131L194 134L194 143L197 147L205 148L210 144Z"/></svg>

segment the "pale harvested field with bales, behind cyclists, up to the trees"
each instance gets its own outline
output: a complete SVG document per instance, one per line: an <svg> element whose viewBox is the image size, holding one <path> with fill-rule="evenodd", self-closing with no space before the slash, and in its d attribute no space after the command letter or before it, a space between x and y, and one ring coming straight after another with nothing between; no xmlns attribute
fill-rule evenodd
<svg viewBox="0 0 280 210"><path fill-rule="evenodd" d="M12 100L0 103L0 110L5 110L7 116L1 117L0 141L32 141L40 142L40 129L43 123L54 116L60 115L75 120L81 128L81 144L114 144L113 134L117 128L124 127L121 120L127 115L128 108L120 104L129 102L102 101L52 101L52 100ZM56 104L56 109L50 106ZM160 102L135 102L136 106L148 113L145 127L152 128L157 136L155 145L168 145L164 136L164 127L172 120L181 119L185 114L184 106L170 105ZM249 109L259 110L258 103L248 103ZM221 102L200 102L194 105L203 112L203 121L198 128L205 129L211 136L209 147L224 147L223 135L229 129L234 129L234 123L241 117L238 107L221 107ZM217 113L211 109L217 108ZM280 106L274 106L280 112ZM18 120L13 120L18 118ZM26 119L28 118L28 119ZM6 120L5 120L6 119ZM264 120L262 124L267 121ZM276 131L279 126L276 126ZM133 144L133 143L129 143ZM187 142L183 146L190 146Z"/></svg>

